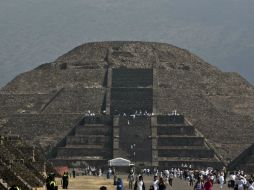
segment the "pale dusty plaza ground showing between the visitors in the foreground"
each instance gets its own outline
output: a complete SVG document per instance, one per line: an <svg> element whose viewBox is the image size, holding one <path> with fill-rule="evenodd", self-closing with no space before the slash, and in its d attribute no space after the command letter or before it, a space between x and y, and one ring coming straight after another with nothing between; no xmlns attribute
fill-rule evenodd
<svg viewBox="0 0 254 190"><path fill-rule="evenodd" d="M128 190L127 176L121 176L124 181L124 190ZM152 182L152 177L144 178L146 189ZM58 179L58 189L62 190L60 179ZM106 179L105 176L93 177L93 176L78 176L75 179L70 178L69 189L70 190L98 190L100 186L106 186L108 190L114 190L113 179ZM228 190L226 185L223 187L224 190ZM193 190L193 187L188 186L186 181L180 179L174 179L173 187L168 187L168 190ZM219 190L217 184L214 185L213 190Z"/></svg>

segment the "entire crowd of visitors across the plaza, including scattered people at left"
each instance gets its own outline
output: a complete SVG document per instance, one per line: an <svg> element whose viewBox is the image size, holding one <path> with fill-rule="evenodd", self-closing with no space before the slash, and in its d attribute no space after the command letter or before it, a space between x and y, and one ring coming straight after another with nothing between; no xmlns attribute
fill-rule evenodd
<svg viewBox="0 0 254 190"><path fill-rule="evenodd" d="M73 170L74 171L74 170ZM72 173L75 178L75 173ZM124 183L121 176L117 175L114 168L108 168L104 172L101 169L95 167L87 167L84 169L83 175L102 176L106 174L107 179L113 179L113 184L116 190L124 190ZM151 179L152 176L152 179ZM147 179L151 179L148 182ZM243 171L227 172L226 169L214 170L213 168L196 170L192 169L191 165L184 168L172 168L169 170L159 171L158 169L142 169L139 172L131 169L127 181L128 190L166 190L175 189L174 181L178 178L178 182L188 184L190 189L193 190L213 190L214 184L218 184L220 189L225 189L227 186L233 190L254 190L254 176L246 175ZM146 178L146 181L144 181ZM68 173L64 173L62 176L62 188L68 188ZM56 190L54 188L55 182L50 175L47 178L47 189ZM102 186L100 189L107 189Z"/></svg>

